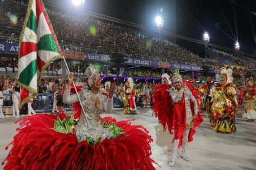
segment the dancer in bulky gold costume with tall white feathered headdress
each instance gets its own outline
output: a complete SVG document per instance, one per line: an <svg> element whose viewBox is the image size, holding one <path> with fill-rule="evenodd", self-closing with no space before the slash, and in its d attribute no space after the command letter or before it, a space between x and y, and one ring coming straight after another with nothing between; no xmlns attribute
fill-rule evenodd
<svg viewBox="0 0 256 170"><path fill-rule="evenodd" d="M238 109L236 89L232 82L232 69L221 68L220 83L212 92L211 113L208 116L215 132L236 132L235 115Z"/></svg>

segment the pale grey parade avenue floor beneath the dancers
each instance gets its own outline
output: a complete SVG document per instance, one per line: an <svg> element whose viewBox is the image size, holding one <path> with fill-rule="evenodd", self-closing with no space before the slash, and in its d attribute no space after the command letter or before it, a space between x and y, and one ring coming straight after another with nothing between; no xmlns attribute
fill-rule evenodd
<svg viewBox="0 0 256 170"><path fill-rule="evenodd" d="M122 108L115 108L112 114L103 114L102 117L111 116L117 120L135 118L133 125L146 127L154 139L151 143L151 157L161 166L159 168L156 165L157 170L256 170L256 121L246 122L241 117L241 111L239 109L236 116L235 134L214 132L205 112L202 112L204 121L197 128L194 141L187 148L190 161L177 157L173 167L169 167L173 136L163 132L158 119L152 116L152 109L138 108L138 115L123 115ZM16 120L18 119L8 117L0 119L0 162L9 152L4 148L16 134ZM0 165L0 170L2 169Z"/></svg>

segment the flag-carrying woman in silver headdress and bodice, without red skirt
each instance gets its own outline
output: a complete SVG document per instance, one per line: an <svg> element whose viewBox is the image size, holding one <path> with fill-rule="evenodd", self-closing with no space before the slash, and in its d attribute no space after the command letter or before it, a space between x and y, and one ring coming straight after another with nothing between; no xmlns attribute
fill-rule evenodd
<svg viewBox="0 0 256 170"><path fill-rule="evenodd" d="M79 92L80 100L88 118L89 125L86 122L85 115L81 114L78 124L75 126L76 135L79 141L85 140L86 136L90 136L93 140L101 137L104 140L106 137L111 137L112 134L108 132L99 122L102 110L110 113L113 108L113 93L115 91L116 83L112 83L109 88L108 97L101 94L101 78L98 74L98 68L90 67L86 69L88 76L88 88L84 88ZM68 86L63 95L63 102L73 104L79 102L77 94L70 95L73 75L68 76Z"/></svg>

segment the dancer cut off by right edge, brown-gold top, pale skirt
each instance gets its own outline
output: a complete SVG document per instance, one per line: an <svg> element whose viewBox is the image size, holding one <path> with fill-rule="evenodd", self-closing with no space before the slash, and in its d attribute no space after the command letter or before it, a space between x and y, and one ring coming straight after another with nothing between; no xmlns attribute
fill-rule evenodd
<svg viewBox="0 0 256 170"><path fill-rule="evenodd" d="M243 118L247 118L246 121L254 121L256 119L256 85L253 84L253 77L247 81L242 92L244 112Z"/></svg>

